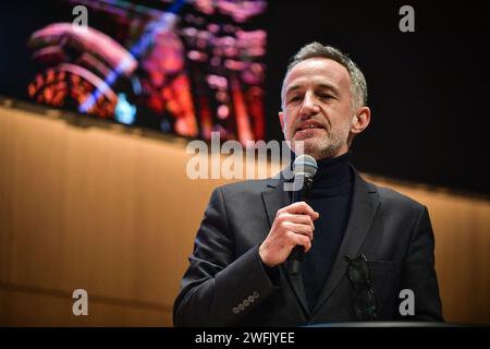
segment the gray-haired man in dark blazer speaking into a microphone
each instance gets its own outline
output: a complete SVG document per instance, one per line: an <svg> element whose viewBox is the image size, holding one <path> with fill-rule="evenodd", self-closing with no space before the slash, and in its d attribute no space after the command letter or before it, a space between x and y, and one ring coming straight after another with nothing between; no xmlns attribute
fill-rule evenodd
<svg viewBox="0 0 490 349"><path fill-rule="evenodd" d="M350 164L353 139L370 121L360 70L340 50L309 44L287 67L281 99L285 140L316 160L308 200L292 200L284 177L216 189L174 325L442 321L427 208ZM408 314L401 291L413 294Z"/></svg>

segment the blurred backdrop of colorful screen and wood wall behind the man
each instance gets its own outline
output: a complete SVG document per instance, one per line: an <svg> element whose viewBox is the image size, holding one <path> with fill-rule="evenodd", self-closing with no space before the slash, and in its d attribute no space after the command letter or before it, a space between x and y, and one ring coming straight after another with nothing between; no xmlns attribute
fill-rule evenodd
<svg viewBox="0 0 490 349"><path fill-rule="evenodd" d="M399 24L415 10L415 32ZM79 21L83 5L87 27ZM282 140L287 61L339 47L368 83L368 179L428 206L446 321L490 324L488 1L0 4L0 325L171 326L209 194L192 140ZM269 174L280 164L257 160ZM74 316L85 289L89 315Z"/></svg>

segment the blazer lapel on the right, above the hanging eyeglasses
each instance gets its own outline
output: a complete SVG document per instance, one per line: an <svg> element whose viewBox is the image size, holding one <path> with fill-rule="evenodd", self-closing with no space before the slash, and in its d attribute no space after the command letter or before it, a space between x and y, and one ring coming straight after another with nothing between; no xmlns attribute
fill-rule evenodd
<svg viewBox="0 0 490 349"><path fill-rule="evenodd" d="M329 299L336 285L345 275L347 263L344 256L354 256L358 253L380 204L376 188L370 186L357 174L354 168L352 169L355 173L354 193L347 228L345 229L339 253L333 262L332 272L315 304L313 315L321 309L321 305Z"/></svg>

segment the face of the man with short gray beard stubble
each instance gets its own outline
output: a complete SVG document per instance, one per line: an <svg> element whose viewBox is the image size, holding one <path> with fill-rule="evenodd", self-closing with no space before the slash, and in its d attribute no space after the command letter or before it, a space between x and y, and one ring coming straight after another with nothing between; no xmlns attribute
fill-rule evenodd
<svg viewBox="0 0 490 349"><path fill-rule="evenodd" d="M319 160L347 152L354 122L351 76L340 63L310 58L294 67L284 81L283 111L279 113L286 141L295 153Z"/></svg>

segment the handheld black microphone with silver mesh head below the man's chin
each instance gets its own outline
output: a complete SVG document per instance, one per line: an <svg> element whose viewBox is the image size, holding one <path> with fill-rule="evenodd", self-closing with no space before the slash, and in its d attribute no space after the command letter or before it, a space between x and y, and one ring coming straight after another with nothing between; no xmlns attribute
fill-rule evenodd
<svg viewBox="0 0 490 349"><path fill-rule="evenodd" d="M299 155L293 163L294 181L303 185L293 192L293 203L304 201L309 204L313 178L317 173L317 161L309 155ZM305 256L305 248L295 245L287 260L290 274L299 273L301 263Z"/></svg>

